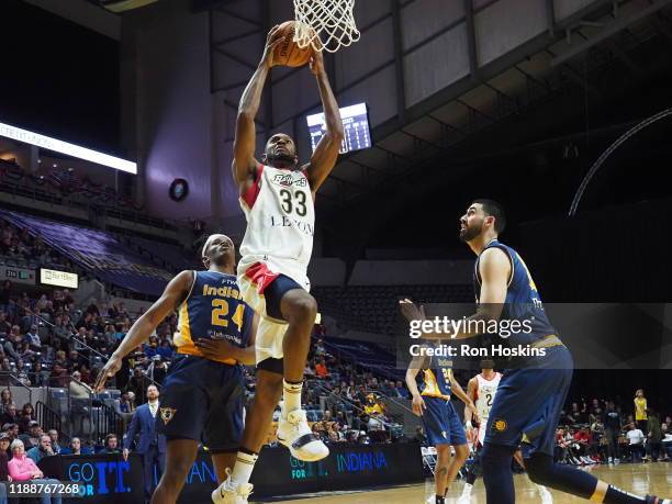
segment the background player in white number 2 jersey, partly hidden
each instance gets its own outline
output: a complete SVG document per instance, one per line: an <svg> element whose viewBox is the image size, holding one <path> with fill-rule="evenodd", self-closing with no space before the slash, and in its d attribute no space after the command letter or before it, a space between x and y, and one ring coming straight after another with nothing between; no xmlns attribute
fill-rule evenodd
<svg viewBox="0 0 672 504"><path fill-rule="evenodd" d="M467 429L467 436L473 443L474 447L474 459L473 463L464 479L464 490L462 495L458 499L457 504L469 504L471 502L471 490L477 478L482 473L481 468L481 451L483 444L485 443L485 426L488 425L488 418L490 418L490 411L494 397L497 393L497 387L500 387L500 380L502 373L494 370L494 361L483 360L481 361L481 373L469 380L467 384L467 395L475 403L477 413L479 414L478 429L474 430L472 425L471 412L464 410L464 424ZM520 450L516 450L514 453L516 462L525 468L523 461L523 453ZM552 504L553 497L550 492L540 484L536 485L541 497L541 504Z"/></svg>

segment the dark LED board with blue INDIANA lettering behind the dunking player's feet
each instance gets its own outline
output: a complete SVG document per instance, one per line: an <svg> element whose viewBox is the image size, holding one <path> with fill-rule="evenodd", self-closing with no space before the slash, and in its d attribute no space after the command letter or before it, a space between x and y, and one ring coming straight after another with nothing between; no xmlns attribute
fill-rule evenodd
<svg viewBox="0 0 672 504"><path fill-rule="evenodd" d="M254 496L260 499L419 481L424 481L423 460L416 443L329 444L329 456L320 462L302 462L287 448L265 448L251 477ZM210 502L215 488L210 455L201 451L178 502Z"/></svg>

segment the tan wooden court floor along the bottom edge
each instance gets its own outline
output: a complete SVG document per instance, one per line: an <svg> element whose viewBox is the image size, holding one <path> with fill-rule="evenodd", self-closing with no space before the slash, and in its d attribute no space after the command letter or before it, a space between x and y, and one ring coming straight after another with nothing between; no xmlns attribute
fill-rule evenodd
<svg viewBox="0 0 672 504"><path fill-rule="evenodd" d="M592 466L586 469L595 477L615 484L616 486L629 491L635 494L652 493L660 497L672 497L672 463L654 462L654 463L624 463L619 466ZM533 483L527 475L520 474L515 477L516 484L516 504L537 504L540 503ZM446 503L455 503L457 497L462 492L463 483L457 481L448 492ZM276 502L294 502L304 501L315 504L424 504L425 499L433 492L434 485L430 480L424 484L415 484L384 490L366 490L359 492L335 492L321 493L300 499ZM553 503L556 504L574 504L585 503L579 497L562 494L551 490ZM254 500L254 494L253 494ZM471 493L471 504L485 504L485 489L483 482L477 480L477 483ZM495 503L496 504L496 503Z"/></svg>

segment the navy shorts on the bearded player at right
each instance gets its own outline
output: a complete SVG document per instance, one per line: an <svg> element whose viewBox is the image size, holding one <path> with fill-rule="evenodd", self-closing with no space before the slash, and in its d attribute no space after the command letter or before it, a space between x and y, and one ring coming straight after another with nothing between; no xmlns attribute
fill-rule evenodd
<svg viewBox="0 0 672 504"><path fill-rule="evenodd" d="M505 371L488 418L485 443L520 446L525 458L535 452L552 457L573 367L567 347L557 346L530 367Z"/></svg>

